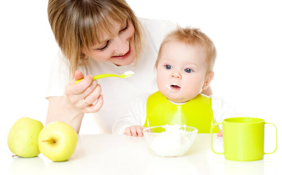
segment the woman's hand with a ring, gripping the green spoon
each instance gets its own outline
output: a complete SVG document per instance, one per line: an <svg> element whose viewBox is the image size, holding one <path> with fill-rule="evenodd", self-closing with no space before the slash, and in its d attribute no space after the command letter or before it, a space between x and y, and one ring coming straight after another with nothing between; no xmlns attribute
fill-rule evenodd
<svg viewBox="0 0 282 175"><path fill-rule="evenodd" d="M75 78L65 86L67 107L79 113L98 112L103 105L102 89L97 81L93 81L93 76L88 75L83 80L75 84L76 80L82 79L80 71L75 72ZM97 102L95 104L95 101Z"/></svg>

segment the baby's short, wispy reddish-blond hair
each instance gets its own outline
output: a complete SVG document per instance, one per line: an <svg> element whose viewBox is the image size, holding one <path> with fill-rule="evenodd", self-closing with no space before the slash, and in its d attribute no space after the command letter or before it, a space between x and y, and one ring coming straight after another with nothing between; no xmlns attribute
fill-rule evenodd
<svg viewBox="0 0 282 175"><path fill-rule="evenodd" d="M171 41L184 43L186 45L200 46L204 52L206 52L206 61L208 63L207 73L212 72L217 56L217 51L212 40L206 34L201 32L200 29L181 28L180 26L178 26L178 29L175 31L169 33L160 45L159 54L155 65L156 67L159 64L163 46Z"/></svg>

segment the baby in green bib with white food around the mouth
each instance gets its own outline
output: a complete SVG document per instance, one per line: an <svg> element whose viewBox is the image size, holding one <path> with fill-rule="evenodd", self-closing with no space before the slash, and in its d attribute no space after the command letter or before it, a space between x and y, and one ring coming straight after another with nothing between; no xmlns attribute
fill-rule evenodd
<svg viewBox="0 0 282 175"><path fill-rule="evenodd" d="M144 127L166 124L210 133L213 123L238 116L221 98L201 94L214 77L216 55L212 40L199 29L179 27L168 34L156 61L159 91L136 98L128 113L114 123L112 133L143 136ZM220 131L218 127L213 133ZM222 136L222 131L217 135Z"/></svg>

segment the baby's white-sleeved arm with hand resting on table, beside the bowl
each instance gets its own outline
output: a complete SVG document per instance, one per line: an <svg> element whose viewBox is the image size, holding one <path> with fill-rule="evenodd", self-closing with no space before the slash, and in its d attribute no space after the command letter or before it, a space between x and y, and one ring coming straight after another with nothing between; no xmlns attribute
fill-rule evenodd
<svg viewBox="0 0 282 175"><path fill-rule="evenodd" d="M130 104L128 111L120 117L112 126L113 134L126 134L141 136L146 120L146 103L149 94L141 94ZM138 127L137 127L138 126ZM141 128L141 134L140 134ZM129 132L130 131L130 132ZM132 133L132 132L133 133ZM139 134L138 134L139 132Z"/></svg>

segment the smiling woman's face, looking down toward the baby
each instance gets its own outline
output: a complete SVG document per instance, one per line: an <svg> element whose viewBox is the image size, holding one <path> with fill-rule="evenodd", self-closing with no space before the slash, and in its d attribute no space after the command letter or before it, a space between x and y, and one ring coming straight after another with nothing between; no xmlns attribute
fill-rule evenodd
<svg viewBox="0 0 282 175"><path fill-rule="evenodd" d="M81 51L96 61L111 62L117 66L129 65L136 57L133 23L129 19L125 20L123 24L112 20L112 25L112 36L105 33L100 44L90 49L81 48Z"/></svg>

